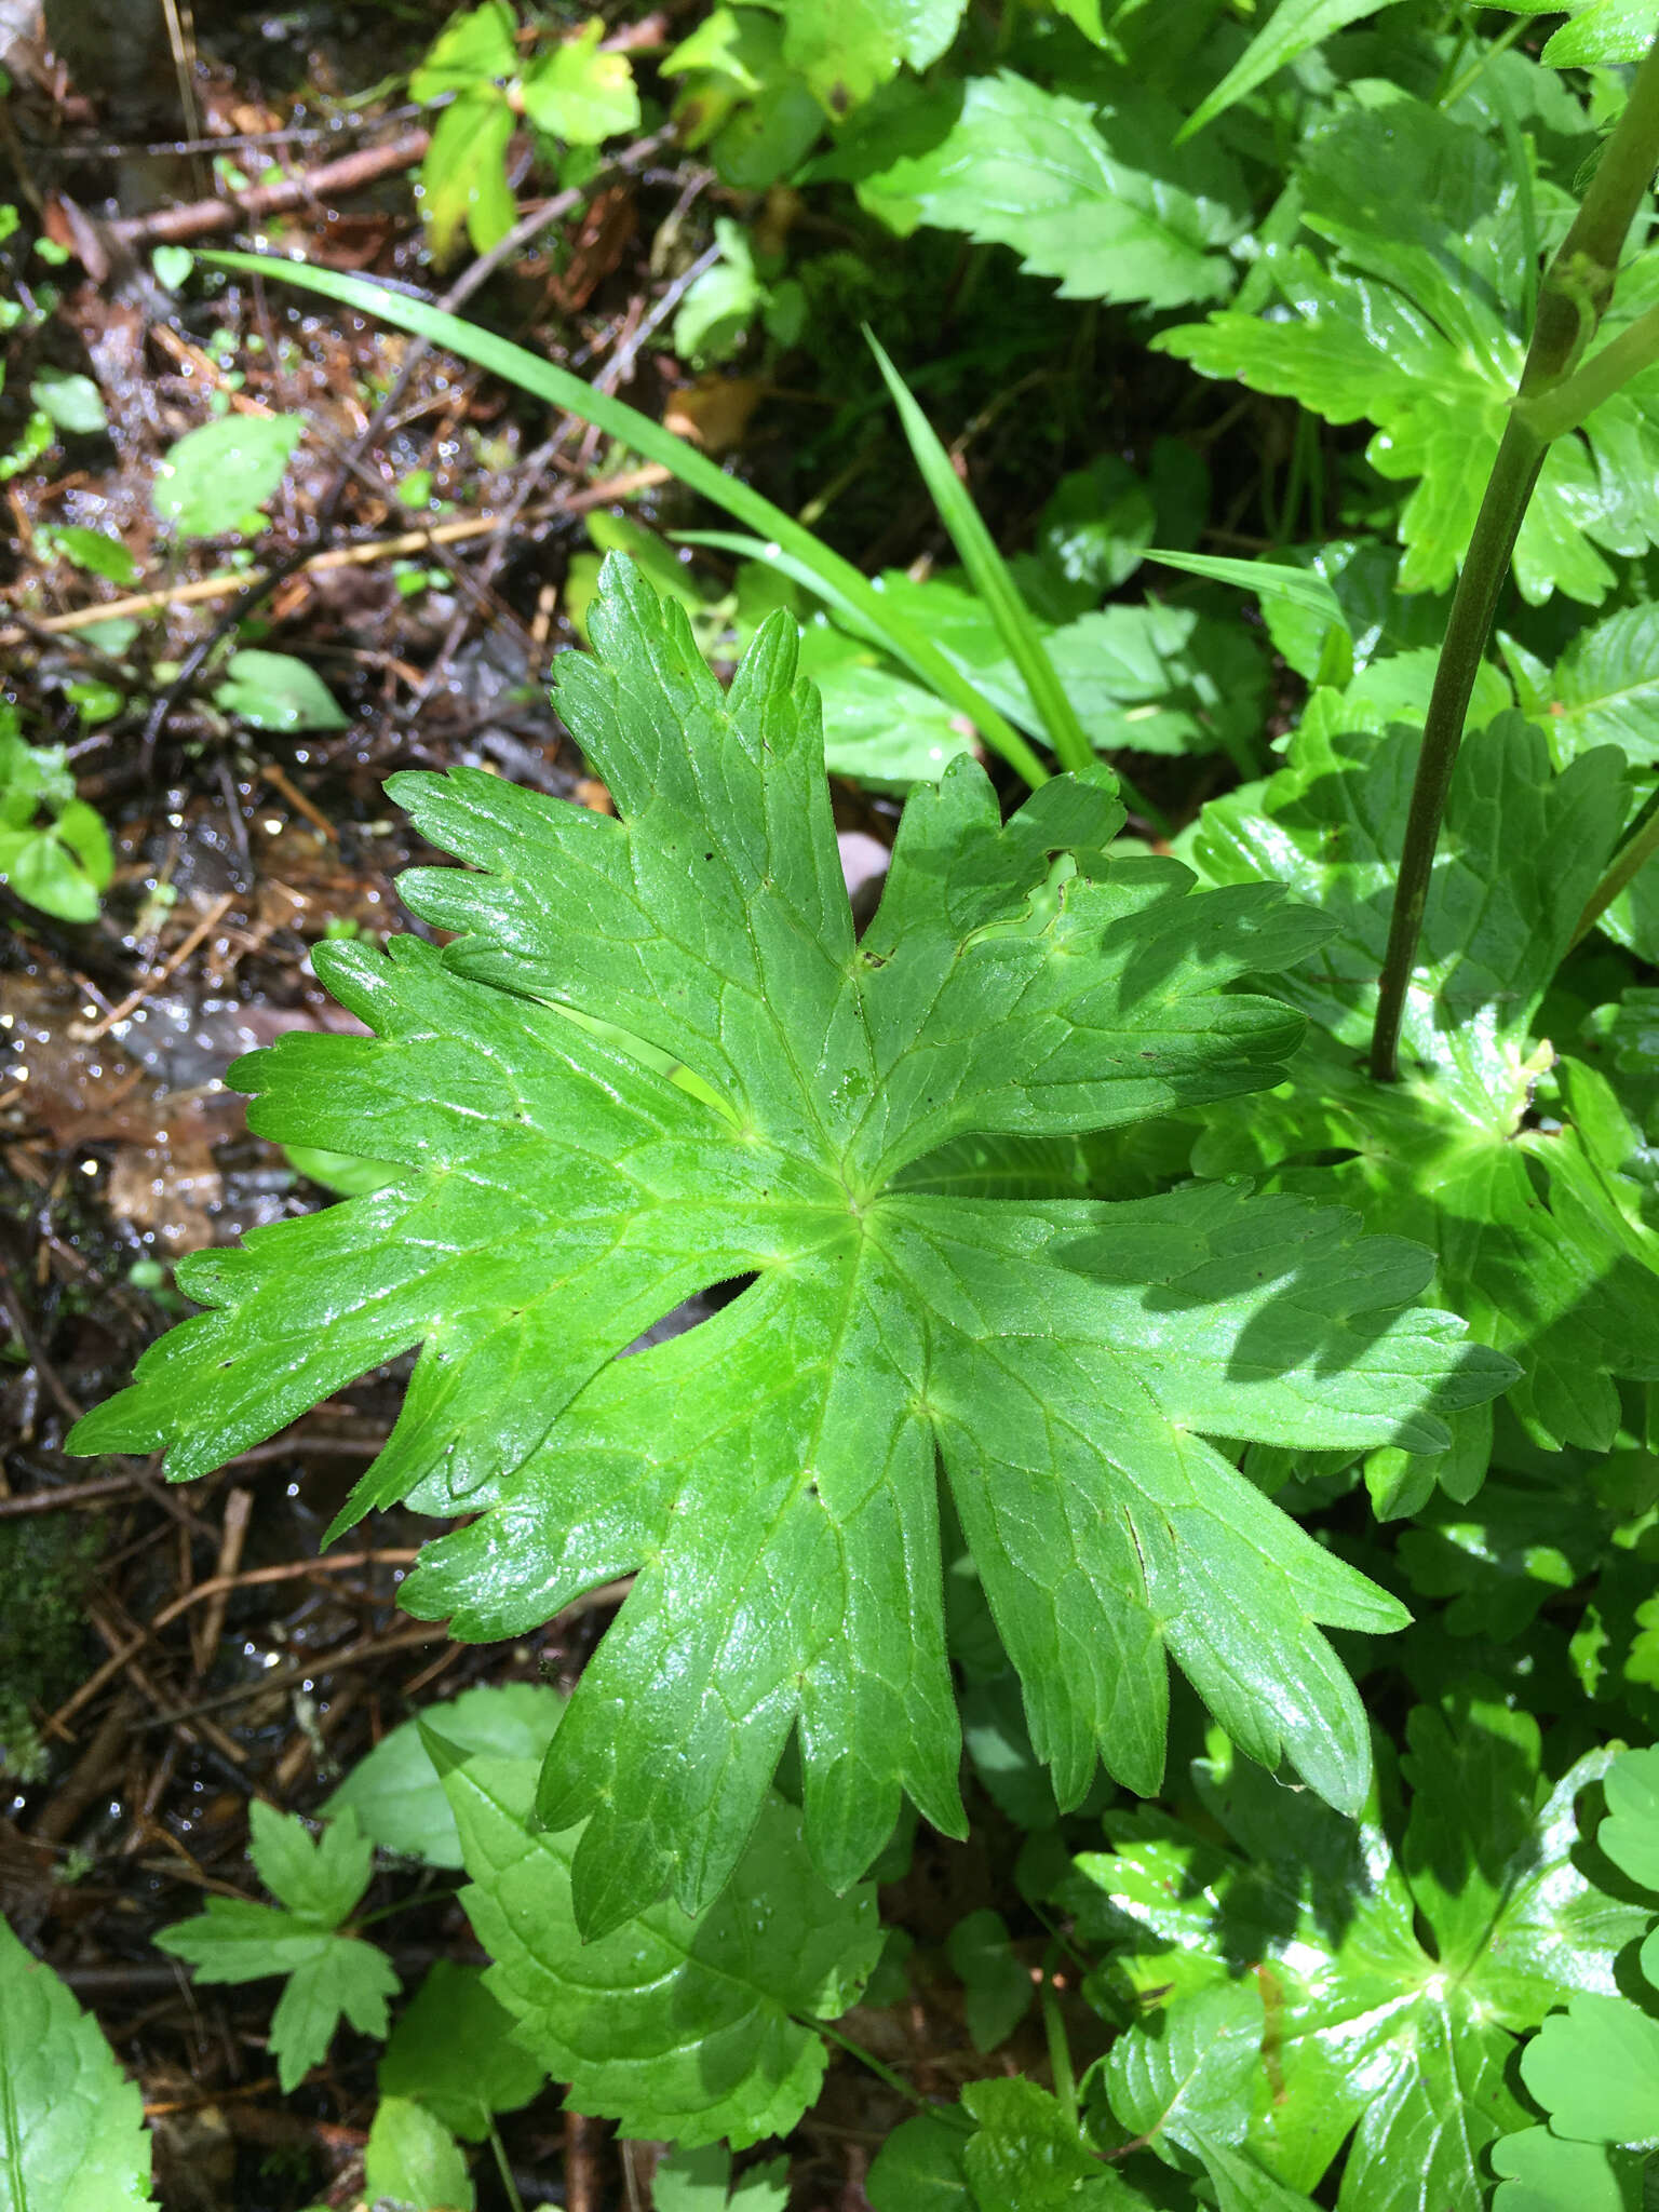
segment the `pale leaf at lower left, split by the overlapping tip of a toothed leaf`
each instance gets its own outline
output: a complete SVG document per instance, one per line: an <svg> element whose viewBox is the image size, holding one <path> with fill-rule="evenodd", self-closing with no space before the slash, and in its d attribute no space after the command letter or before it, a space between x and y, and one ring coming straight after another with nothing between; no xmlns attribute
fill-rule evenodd
<svg viewBox="0 0 1659 2212"><path fill-rule="evenodd" d="M540 1761L562 1712L557 1690L504 1681L462 1690L447 1705L427 1705L425 1719L462 1752ZM336 1820L347 1809L383 1851L420 1858L429 1867L458 1869L462 1863L456 1816L418 1721L403 1721L385 1734L323 1805L323 1816Z"/></svg>

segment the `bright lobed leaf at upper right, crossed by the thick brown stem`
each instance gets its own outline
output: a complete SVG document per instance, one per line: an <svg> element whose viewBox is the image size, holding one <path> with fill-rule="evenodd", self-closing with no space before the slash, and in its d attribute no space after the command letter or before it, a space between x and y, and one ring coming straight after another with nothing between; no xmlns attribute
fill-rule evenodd
<svg viewBox="0 0 1659 2212"><path fill-rule="evenodd" d="M1155 345L1206 376L1239 376L1332 422L1376 422L1367 456L1416 489L1400 518L1405 591L1444 591L1473 531L1526 352L1533 243L1564 208L1548 186L1522 199L1506 153L1416 100L1345 106L1314 135L1298 175L1303 221L1323 250L1267 246L1270 314L1223 310ZM1601 338L1655 288L1626 270ZM1644 489L1659 473L1659 376L1646 372L1559 438L1515 542L1528 599L1599 602L1606 553L1659 538Z"/></svg>

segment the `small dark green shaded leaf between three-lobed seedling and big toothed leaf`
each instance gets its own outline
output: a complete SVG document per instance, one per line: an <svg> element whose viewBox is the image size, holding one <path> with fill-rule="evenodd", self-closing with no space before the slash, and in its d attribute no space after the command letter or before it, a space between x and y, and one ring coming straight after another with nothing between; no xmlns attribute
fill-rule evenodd
<svg viewBox="0 0 1659 2212"><path fill-rule="evenodd" d="M480 1966L434 1960L385 2046L380 2095L414 2097L451 2135L482 2143L493 2112L515 2112L546 2081L513 2026Z"/></svg>

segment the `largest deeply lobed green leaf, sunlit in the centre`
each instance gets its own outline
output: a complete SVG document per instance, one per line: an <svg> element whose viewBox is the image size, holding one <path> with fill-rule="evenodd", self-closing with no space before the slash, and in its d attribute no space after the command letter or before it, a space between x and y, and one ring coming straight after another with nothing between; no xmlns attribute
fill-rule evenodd
<svg viewBox="0 0 1659 2212"><path fill-rule="evenodd" d="M1427 1252L1298 1199L929 1183L958 1137L1276 1082L1301 1018L1225 987L1325 922L1272 885L1190 898L1179 863L1113 858L1106 770L1004 825L960 759L911 799L856 942L794 624L763 626L730 695L626 562L591 626L560 708L617 816L480 772L398 779L471 863L405 876L456 940L319 947L372 1035L239 1064L254 1128L398 1177L201 1254L181 1281L212 1312L77 1449L199 1473L420 1345L352 1513L473 1520L403 1601L500 1637L637 1573L540 1798L555 1829L588 1820L591 1929L670 1876L686 1909L714 1896L792 1730L836 1887L902 1792L960 1832L940 1460L1062 1805L1097 1756L1157 1787L1166 1655L1254 1756L1358 1803L1365 1721L1314 1621L1400 1608L1206 1438L1433 1453L1509 1360L1407 1305Z"/></svg>

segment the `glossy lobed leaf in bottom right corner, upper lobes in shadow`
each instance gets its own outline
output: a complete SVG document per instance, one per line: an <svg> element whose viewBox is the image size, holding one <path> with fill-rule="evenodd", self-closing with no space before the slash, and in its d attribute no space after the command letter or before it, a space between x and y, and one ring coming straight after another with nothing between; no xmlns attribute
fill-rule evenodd
<svg viewBox="0 0 1659 2212"><path fill-rule="evenodd" d="M1126 2130L1237 2146L1294 2190L1352 2130L1343 2212L1484 2201L1484 2146L1524 2124L1515 2035L1610 1991L1644 1916L1575 1865L1608 1752L1551 1790L1537 1723L1478 1690L1418 1710L1409 1741L1398 1843L1376 1803L1352 1825L1230 1754L1194 1767L1228 1847L1108 1814L1117 1849L1064 1896L1146 2011L1095 2077Z"/></svg>

